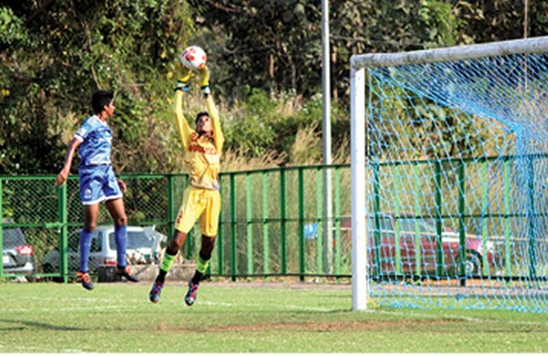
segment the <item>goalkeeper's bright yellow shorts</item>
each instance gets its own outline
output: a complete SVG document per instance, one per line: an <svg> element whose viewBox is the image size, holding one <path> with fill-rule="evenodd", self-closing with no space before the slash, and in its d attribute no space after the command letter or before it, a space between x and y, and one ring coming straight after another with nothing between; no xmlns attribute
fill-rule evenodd
<svg viewBox="0 0 548 356"><path fill-rule="evenodd" d="M217 235L221 194L219 190L208 190L189 186L184 190L183 202L175 219L175 229L188 233L197 218L200 218L202 235L210 238Z"/></svg>

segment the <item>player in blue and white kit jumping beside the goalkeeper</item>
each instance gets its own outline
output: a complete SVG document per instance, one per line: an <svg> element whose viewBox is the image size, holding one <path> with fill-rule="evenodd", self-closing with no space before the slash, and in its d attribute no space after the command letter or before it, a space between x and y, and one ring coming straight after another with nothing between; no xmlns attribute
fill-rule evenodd
<svg viewBox="0 0 548 356"><path fill-rule="evenodd" d="M76 149L79 149L80 164L78 178L80 199L84 205L84 229L80 233L80 269L77 281L87 290L93 289L88 272L93 231L97 227L99 203L105 205L114 219L114 240L116 241L116 274L128 281L137 282L125 259L127 245L127 216L123 202L125 183L116 178L110 163L112 130L108 118L114 114L114 94L97 90L92 95L94 115L88 117L79 127L66 152L64 167L55 179L55 186L62 186L71 172L71 164Z"/></svg>

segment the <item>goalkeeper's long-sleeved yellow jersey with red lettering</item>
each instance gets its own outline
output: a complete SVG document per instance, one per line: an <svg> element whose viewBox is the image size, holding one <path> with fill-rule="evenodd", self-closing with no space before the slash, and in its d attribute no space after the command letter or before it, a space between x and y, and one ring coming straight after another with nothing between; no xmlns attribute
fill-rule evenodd
<svg viewBox="0 0 548 356"><path fill-rule="evenodd" d="M183 92L175 92L175 125L184 146L184 163L190 175L190 186L208 190L219 190L219 158L225 137L221 131L219 112L211 95L206 99L213 128L213 138L199 137L188 126L183 116Z"/></svg>

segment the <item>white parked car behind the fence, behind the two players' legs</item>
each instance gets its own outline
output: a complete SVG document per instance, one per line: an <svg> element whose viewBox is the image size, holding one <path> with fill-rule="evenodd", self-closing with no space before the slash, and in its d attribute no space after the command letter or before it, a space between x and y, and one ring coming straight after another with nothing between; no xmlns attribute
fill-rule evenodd
<svg viewBox="0 0 548 356"><path fill-rule="evenodd" d="M69 234L69 272L79 269L79 237L81 229ZM166 236L154 230L154 227L127 227L126 257L130 264L158 262L158 253L166 241ZM44 272L58 272L60 255L58 250L49 251L44 257ZM88 269L95 272L100 266L116 266L116 241L114 226L99 226L93 231Z"/></svg>

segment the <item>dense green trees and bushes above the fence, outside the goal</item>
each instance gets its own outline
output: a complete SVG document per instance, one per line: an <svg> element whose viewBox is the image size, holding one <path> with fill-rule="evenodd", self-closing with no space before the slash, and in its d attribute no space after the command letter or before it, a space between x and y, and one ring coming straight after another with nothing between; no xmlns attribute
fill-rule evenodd
<svg viewBox="0 0 548 356"><path fill-rule="evenodd" d="M348 136L350 55L524 32L521 0L329 3L336 147ZM547 3L529 3L527 35L546 34ZM292 163L299 130L321 135L320 0L3 1L0 174L57 173L97 88L116 92L117 170L182 170L171 88L190 43L210 56L227 149ZM200 105L197 93L188 97L189 118ZM307 152L321 161L321 147Z"/></svg>

